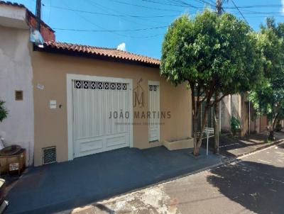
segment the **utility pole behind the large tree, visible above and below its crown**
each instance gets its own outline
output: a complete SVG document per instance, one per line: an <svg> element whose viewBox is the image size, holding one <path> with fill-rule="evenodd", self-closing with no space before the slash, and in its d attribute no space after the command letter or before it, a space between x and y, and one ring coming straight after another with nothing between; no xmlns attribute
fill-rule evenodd
<svg viewBox="0 0 284 214"><path fill-rule="evenodd" d="M222 14L222 0L216 0L216 10L218 15ZM219 99L219 93L215 92L214 100ZM220 101L221 102L221 101ZM220 114L219 114L219 102L214 104L214 154L219 154L219 134L220 134Z"/></svg>

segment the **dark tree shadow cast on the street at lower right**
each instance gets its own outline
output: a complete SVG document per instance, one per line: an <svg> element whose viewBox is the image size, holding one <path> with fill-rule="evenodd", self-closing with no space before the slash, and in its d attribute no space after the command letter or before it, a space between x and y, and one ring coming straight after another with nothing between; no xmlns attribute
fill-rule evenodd
<svg viewBox="0 0 284 214"><path fill-rule="evenodd" d="M284 145L279 145L283 152ZM275 162L283 162L275 157ZM277 165L277 164L276 164ZM283 165L283 164L282 164ZM284 169L270 162L240 161L212 169L209 184L255 213L284 213Z"/></svg>

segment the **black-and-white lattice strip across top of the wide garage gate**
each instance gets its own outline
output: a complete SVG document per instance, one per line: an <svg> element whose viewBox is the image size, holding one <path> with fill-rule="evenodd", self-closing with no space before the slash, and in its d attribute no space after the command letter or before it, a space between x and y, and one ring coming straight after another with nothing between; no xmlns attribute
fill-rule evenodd
<svg viewBox="0 0 284 214"><path fill-rule="evenodd" d="M97 89L97 90L121 90L126 91L126 83L109 82L109 81L85 81L75 80L74 89Z"/></svg>

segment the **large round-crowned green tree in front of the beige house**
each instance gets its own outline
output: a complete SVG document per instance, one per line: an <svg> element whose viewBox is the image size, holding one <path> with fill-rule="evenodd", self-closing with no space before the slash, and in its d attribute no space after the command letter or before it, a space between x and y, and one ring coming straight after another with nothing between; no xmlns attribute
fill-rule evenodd
<svg viewBox="0 0 284 214"><path fill-rule="evenodd" d="M229 13L205 10L187 14L168 28L162 46L160 74L175 85L187 83L192 98L194 151L202 143L207 111L229 94L248 91L258 82L260 53L251 28ZM212 101L214 94L222 94ZM201 133L197 118L205 102Z"/></svg>

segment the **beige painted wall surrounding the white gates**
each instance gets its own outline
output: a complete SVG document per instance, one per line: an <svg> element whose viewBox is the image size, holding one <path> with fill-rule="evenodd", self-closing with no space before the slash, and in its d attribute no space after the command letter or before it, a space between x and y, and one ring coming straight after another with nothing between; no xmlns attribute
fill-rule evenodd
<svg viewBox="0 0 284 214"><path fill-rule="evenodd" d="M32 52L35 109L35 166L42 164L42 148L56 146L58 162L67 161L67 89L66 74L133 79L133 88L143 79L145 105L133 111L148 111L148 80L160 81L160 111L170 111L171 118L160 120L160 142L148 142L148 125L133 125L133 147L140 149L161 145L163 140L176 140L192 135L190 91L185 85L175 87L159 75L158 68L93 60L45 52ZM43 90L36 86L42 84ZM50 109L55 99L62 108ZM134 123L148 119L134 119Z"/></svg>

